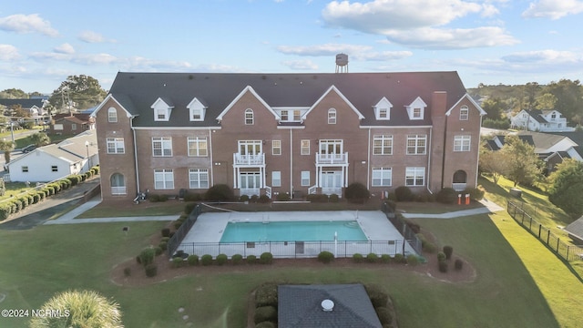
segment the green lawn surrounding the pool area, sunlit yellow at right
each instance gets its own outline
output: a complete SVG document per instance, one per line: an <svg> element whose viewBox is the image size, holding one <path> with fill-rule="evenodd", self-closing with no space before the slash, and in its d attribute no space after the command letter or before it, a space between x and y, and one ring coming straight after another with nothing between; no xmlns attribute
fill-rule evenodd
<svg viewBox="0 0 583 328"><path fill-rule="evenodd" d="M414 210L413 204L408 206ZM197 267L166 282L120 287L110 281L112 267L134 258L165 222L131 223L127 236L121 228L128 223L39 226L0 230L0 293L6 295L0 307L32 309L56 292L92 289L119 302L127 327L180 327L186 322L193 327L244 327L249 293L261 282L363 282L384 286L402 328L580 326L583 284L505 212L414 221L439 246L451 245L455 256L469 261L476 281L440 282L392 265L338 270L322 264L266 265L252 274L236 267L225 272ZM184 313L178 312L180 307ZM188 321L181 318L185 314ZM25 322L0 318L1 327L22 327Z"/></svg>

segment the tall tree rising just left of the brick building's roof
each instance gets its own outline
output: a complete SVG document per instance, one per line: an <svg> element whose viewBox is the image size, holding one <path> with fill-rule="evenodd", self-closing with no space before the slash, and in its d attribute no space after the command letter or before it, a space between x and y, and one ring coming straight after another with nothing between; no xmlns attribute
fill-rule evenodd
<svg viewBox="0 0 583 328"><path fill-rule="evenodd" d="M56 110L87 109L99 104L106 95L107 91L99 85L96 78L85 75L70 76L53 91L48 101Z"/></svg>

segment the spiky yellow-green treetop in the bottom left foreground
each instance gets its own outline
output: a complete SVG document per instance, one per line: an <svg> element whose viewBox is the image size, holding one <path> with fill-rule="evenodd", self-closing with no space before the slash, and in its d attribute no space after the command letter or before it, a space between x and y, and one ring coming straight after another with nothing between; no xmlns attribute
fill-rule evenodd
<svg viewBox="0 0 583 328"><path fill-rule="evenodd" d="M56 294L41 309L61 315L34 317L30 328L84 327L122 328L119 304L93 291L68 291Z"/></svg>

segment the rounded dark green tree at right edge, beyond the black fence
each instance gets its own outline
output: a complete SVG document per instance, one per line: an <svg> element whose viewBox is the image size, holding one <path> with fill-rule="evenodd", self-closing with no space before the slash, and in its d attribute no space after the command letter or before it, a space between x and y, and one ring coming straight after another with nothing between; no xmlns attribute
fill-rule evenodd
<svg viewBox="0 0 583 328"><path fill-rule="evenodd" d="M548 200L572 218L580 217L583 214L583 163L566 159L557 165L549 180Z"/></svg>

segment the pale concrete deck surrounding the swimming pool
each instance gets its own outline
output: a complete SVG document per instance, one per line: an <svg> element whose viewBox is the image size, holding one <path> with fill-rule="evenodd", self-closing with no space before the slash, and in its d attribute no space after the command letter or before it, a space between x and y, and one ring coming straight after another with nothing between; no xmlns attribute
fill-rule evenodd
<svg viewBox="0 0 583 328"><path fill-rule="evenodd" d="M356 220L368 241L260 241L220 243L223 231L229 222L275 222L275 221L353 221ZM187 254L216 256L220 253L244 257L252 254L259 257L269 251L274 257L316 257L320 251L332 251L338 257L351 257L354 253L390 254L415 251L403 235L380 210L339 211L270 211L270 212L226 212L202 213L178 247Z"/></svg>

